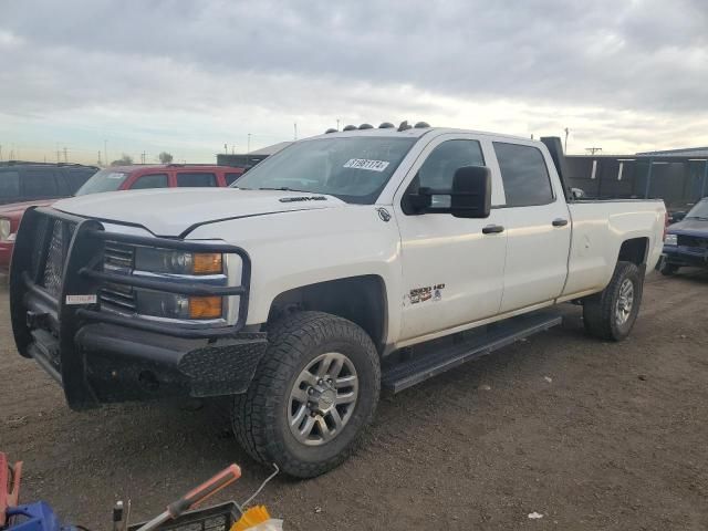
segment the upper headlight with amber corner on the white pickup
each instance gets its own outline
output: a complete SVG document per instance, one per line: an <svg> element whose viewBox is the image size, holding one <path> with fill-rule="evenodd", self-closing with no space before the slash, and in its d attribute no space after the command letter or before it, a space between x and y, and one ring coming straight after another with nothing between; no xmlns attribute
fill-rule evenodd
<svg viewBox="0 0 708 531"><path fill-rule="evenodd" d="M168 249L138 247L135 249L135 269L152 273L221 274L223 257L212 252L184 252Z"/></svg>

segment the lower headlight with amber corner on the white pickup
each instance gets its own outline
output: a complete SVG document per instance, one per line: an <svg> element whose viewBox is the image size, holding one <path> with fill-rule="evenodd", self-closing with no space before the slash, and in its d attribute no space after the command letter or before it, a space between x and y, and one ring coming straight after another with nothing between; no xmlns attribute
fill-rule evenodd
<svg viewBox="0 0 708 531"><path fill-rule="evenodd" d="M136 290L137 313L153 317L210 320L223 316L221 296L187 296L149 290Z"/></svg>

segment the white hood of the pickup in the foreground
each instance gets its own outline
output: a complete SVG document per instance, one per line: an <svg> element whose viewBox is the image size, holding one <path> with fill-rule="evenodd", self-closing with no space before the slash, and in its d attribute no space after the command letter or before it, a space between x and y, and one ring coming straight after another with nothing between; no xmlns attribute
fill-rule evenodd
<svg viewBox="0 0 708 531"><path fill-rule="evenodd" d="M155 236L186 236L211 221L346 205L321 194L238 188L173 188L112 191L64 199L56 210L145 227Z"/></svg>

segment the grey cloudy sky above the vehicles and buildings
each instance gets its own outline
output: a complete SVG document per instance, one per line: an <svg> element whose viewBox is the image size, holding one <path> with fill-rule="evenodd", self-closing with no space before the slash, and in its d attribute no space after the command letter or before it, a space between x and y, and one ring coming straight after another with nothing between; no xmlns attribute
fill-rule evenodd
<svg viewBox="0 0 708 531"><path fill-rule="evenodd" d="M3 159L209 163L337 119L705 146L708 4L0 0Z"/></svg>

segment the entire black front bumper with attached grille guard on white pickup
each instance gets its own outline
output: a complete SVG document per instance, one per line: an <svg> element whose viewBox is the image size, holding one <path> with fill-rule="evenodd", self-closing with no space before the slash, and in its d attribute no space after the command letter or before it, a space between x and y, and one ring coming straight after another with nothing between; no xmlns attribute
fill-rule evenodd
<svg viewBox="0 0 708 531"><path fill-rule="evenodd" d="M60 243L54 238L58 230L65 235ZM243 260L241 285L116 278L101 267L107 240L237 253ZM12 331L20 354L34 358L62 385L73 409L153 397L243 393L267 347L264 333L243 332L249 281L249 257L232 246L106 233L95 220L29 210L10 273ZM238 294L238 322L195 329L103 311L97 294L106 282L149 282L150 289L185 294ZM72 295L93 302L75 305L69 303L75 302Z"/></svg>

